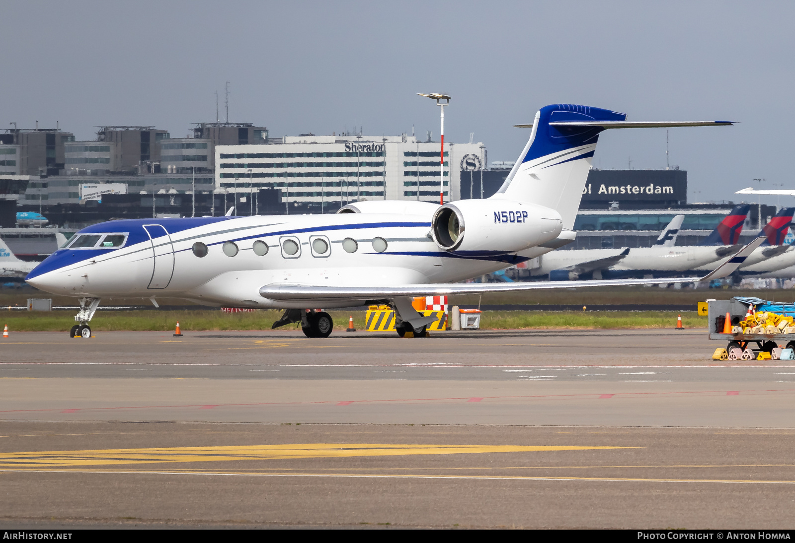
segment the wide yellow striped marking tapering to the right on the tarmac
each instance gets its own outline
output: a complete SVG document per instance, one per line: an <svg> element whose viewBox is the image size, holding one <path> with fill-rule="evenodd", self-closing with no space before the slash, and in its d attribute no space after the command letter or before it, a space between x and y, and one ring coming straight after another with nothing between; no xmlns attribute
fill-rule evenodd
<svg viewBox="0 0 795 543"><path fill-rule="evenodd" d="M419 454L525 453L640 449L577 445L384 445L372 443L305 443L226 447L169 447L162 449L100 449L87 451L34 451L0 453L2 468L45 468L108 464L217 462L222 460L285 460L350 456L409 456Z"/></svg>

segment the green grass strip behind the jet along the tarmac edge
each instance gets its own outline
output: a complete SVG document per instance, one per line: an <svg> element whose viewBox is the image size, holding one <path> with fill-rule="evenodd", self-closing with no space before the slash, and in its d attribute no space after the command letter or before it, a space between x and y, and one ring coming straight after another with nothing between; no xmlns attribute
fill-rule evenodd
<svg viewBox="0 0 795 543"><path fill-rule="evenodd" d="M329 311L334 329L347 329L353 316L355 328L364 329L363 311ZM176 322L186 331L270 330L281 316L280 310L258 310L250 313L222 313L215 310L138 310L98 311L91 321L95 332L111 331L173 331ZM20 312L0 311L0 325L14 332L68 331L75 324L74 315L66 311ZM677 314L657 311L487 311L481 317L482 329L644 329L674 328ZM685 328L706 328L707 318L696 312L683 313ZM296 327L297 325L288 325Z"/></svg>

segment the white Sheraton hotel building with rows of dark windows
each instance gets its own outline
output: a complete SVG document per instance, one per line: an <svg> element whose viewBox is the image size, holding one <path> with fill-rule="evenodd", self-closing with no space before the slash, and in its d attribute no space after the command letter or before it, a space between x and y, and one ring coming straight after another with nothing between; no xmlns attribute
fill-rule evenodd
<svg viewBox="0 0 795 543"><path fill-rule="evenodd" d="M301 136L215 147L215 190L278 188L289 202L417 199L438 202L440 144L413 136ZM444 144L444 199L460 198L461 172L483 168L482 143Z"/></svg>

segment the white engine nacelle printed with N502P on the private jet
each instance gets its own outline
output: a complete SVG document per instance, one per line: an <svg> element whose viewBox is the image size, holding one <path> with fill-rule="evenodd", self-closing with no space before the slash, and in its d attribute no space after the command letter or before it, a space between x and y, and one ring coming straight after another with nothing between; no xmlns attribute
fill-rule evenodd
<svg viewBox="0 0 795 543"><path fill-rule="evenodd" d="M461 256L506 255L554 240L560 214L536 204L488 198L459 200L433 214L436 245Z"/></svg>

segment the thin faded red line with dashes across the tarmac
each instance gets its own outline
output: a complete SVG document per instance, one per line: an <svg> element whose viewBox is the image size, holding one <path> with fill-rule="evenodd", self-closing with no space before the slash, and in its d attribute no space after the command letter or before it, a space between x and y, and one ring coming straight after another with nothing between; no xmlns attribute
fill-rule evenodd
<svg viewBox="0 0 795 543"><path fill-rule="evenodd" d="M616 392L612 396L635 396L638 398L658 398L673 395L704 395L704 394L727 394L739 395L740 392L795 392L795 388L768 388L762 390L748 389L745 391L681 391L681 392ZM515 395L515 396L483 396L483 399L537 399L537 400L558 400L558 399L598 399L603 395L597 394L549 394L549 395ZM353 402L357 403L388 403L388 402L451 402L467 400L466 398L390 398L390 399L373 399L373 400L351 400L350 402L336 402L334 400L321 400L317 402L253 402L253 403L219 403L215 407L253 407L253 406L290 406L290 405L318 405L333 403L337 406L347 406ZM125 409L174 409L186 407L203 407L205 404L195 405L169 405L169 406L118 406L118 407L80 407L72 410L63 409L10 409L0 410L0 413L39 413L48 411L58 411L60 413L68 413L73 411L107 411L107 410L125 410Z"/></svg>

